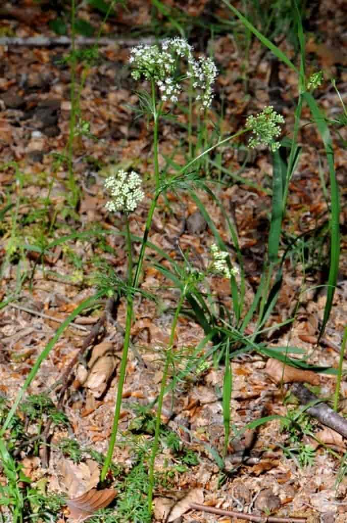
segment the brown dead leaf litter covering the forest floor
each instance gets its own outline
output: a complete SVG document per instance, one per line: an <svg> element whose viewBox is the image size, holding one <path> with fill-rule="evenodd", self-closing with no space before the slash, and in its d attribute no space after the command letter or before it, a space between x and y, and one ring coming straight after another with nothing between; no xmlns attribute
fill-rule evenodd
<svg viewBox="0 0 347 523"><path fill-rule="evenodd" d="M181 3L179 4L181 6ZM119 15L121 23L126 27L143 24L149 20L149 3L147 5L146 2L134 2L134 5L136 5L135 10L130 9L124 11L122 16ZM336 5L337 9L341 9L339 2ZM195 16L203 9L204 2L189 3L187 12ZM331 17L326 16L329 9L328 3L322 2L319 17L328 26L327 34L335 35L337 29L331 27ZM11 15L16 13L12 12ZM87 18L90 16L88 10L85 11L85 15ZM14 19L16 18L18 17L14 16ZM30 35L31 29L28 28L25 20L17 19L15 23L19 24L23 36ZM6 27L11 28L13 24L13 19L6 21ZM72 231L82 232L84 228L89 229L85 239L72 238L62 244L63 246L55 246L48 254L43 255L43 259L40 253L37 255L36 251L30 249L23 253L22 263L24 270L30 274L31 285L22 286L20 303L25 303L29 310L47 314L52 319L9 307L0 311L2 335L0 343L3 355L0 362L2 377L0 391L11 401L57 326L66 319L69 312L91 294L93 256L102 257L119 274L124 272L122 237L115 234L93 236L90 229L90 225L97 223L109 233L118 232L117 227L108 221L104 210L101 164L115 161L132 162L133 158L137 157L141 158L140 169L145 172L148 165L151 165L151 155L148 154L150 142L146 124L141 121L129 123L129 112L122 105L129 100L132 104L136 103L137 98L131 93L130 83L125 77L123 85L122 81L119 81L120 88L113 87L114 77L119 74L119 61L125 63L127 51L106 48L105 65L91 67L81 93L84 118L91 122L91 133L99 140L94 141L89 138L84 139L80 144L76 143L76 153L79 152L80 156L78 159L76 154L75 175L82 180L81 184L83 183L86 190L82 192L78 219L73 216L65 217L66 170L62 167L57 170L52 177L50 189L48 189L47 179L42 176L45 172L55 172L52 167L52 153L63 151L68 134L71 108L67 89L70 81L69 72L63 65L54 65L53 60L54 55L63 53L64 49L23 48L20 53L11 48L0 49L2 60L6 61L4 77L0 85L5 109L0 128L2 161L21 163L21 168L24 169L27 177L25 189L28 201L23 200L19 205L19 217L22 220L20 241L25 242L26 245L37 245L39 242L40 220L42 220L40 198L46 197L49 192L50 203L47 210L49 219L53 220L51 223L59 226L59 235L52 236L50 240L56 240L64 234L71 235ZM336 57L333 56L330 43L323 45L309 40L306 50L314 55L321 66L331 67L332 74L336 73ZM217 60L226 68L226 73L219 75L218 79L218 89L224 89L227 100L223 125L228 129L233 127L237 129L238 118L246 115L246 111L255 106L260 108L264 102L267 102L268 94L263 86L266 86L265 73L268 59L263 58L258 72L250 75L250 87L255 93L255 99L251 102L243 96L244 93L237 81L242 58L234 37L217 36L215 53ZM254 43L250 53L251 65L259 59L259 53L260 47ZM344 58L339 60L344 63ZM18 77L19 70L22 79ZM257 71L255 67L253 71ZM296 84L292 81L291 74L282 67L279 75L282 83L286 85L283 99L290 101L297 96ZM15 91L17 100L13 98ZM338 100L332 97L328 89L322 96L327 111L333 114ZM285 109L285 112L289 123L292 111ZM163 140L160 143L161 152L166 156L172 154L172 151L179 146L180 139L179 128L175 124L165 123ZM291 232L305 233L309 231L311 225L324 223L327 208L320 192L316 156L320 144L315 132L309 126L302 130L302 141L308 145L302 158L300 172L294 173L293 176L288 214L293 220ZM87 164L86 167L80 158L87 156L92 158L94 164ZM227 151L223 158L223 165L233 172L239 169L243 162L240 156L238 158L239 160L235 151ZM183 163L179 156L176 160L178 163ZM163 155L162 166L165 162L166 157ZM267 155L261 151L257 158L250 158L249 162L247 178L263 191L248 187L247 184L218 188L219 197L224 202L239 233L240 248L245 258L247 275L245 301L248 306L255 298L256 284L259 282L267 244L264 227L268 219L270 198L265 189L269 188L269 173L272 169ZM337 151L336 162L337 175L342 180L341 194L345 199L346 192L343 185L345 152ZM96 167L97 164L100 165ZM2 186L6 191L10 190L14 170L8 167L0 172L0 177ZM225 219L220 210L206 194L200 194L198 191L198 195L210 216L213 217L219 233L225 234ZM147 200L140 208L136 219L131 220L131 232L136 236L143 234L144 211L150 197L151 189L148 189ZM182 207L175 195L170 195L170 200L172 209L170 214L165 207L165 202L161 202L160 212L155 222L157 230L153 229L151 242L176 255L176 241L173 240L173 236L177 237L181 228ZM185 217L187 227L179 237L180 248L183 251L188 247L191 248L194 262L197 265L206 264L209 257L208 246L213 240L211 230L197 214L198 209L192 201L183 197L183 204L187 211ZM30 216L31 210L36 211L37 214ZM342 224L345 225L346 213L343 206L341 214ZM35 230L30 223L39 227ZM0 246L3 258L6 256L5 248L10 241L10 226L8 215L5 214ZM227 237L223 239L227 241ZM345 237L342 238L342 242L345 249ZM148 254L157 256L151 249ZM18 281L16 263L16 261L11 263L2 275L3 287L11 292L15 292ZM272 326L284 322L293 314L296 306L295 298L301 286L298 272L287 270L278 306L270 322ZM329 348L329 340L341 346L342 329L347 313L344 285L346 277L347 263L344 256L341 260L340 284L330 318L330 331L328 330L326 334L328 344L313 353L310 362L315 365L336 367L338 364L338 356ZM323 281L323 275L318 271L316 279L312 278L309 281L310 287L321 285ZM230 301L228 301L227 282L218 278L211 280L211 285L218 299L228 307ZM138 409L138 405L145 407L149 401L157 397L162 369L161 351L163 346L167 345L171 308L175 305L175 297L169 292L168 282L154 268L146 267L142 288L155 292L158 300L154 303L141 298L136 302L132 330L134 351L127 366L125 401L121 413L122 434L128 434L129 426L137 416L135 410ZM274 329L266 334L273 349L275 350L276 346L294 346L306 352L313 350L324 304L325 294L322 289L317 291L308 289L300 298L296 320L291 331L281 332L281 329L279 331ZM88 311L80 319L83 322L97 322L99 316L100 310L96 308ZM124 328L123 303L119 304L115 317L118 326ZM108 321L106 335L99 336L98 343L90 347L85 361L78 363L74 372L74 386L68 389L64 402L64 412L70 421L70 427L67 429L60 424L55 426L51 440L52 457L49 469L42 472L49 480L49 490L51 484L57 492L64 492L72 498L67 505L74 520L91 516L96 509L106 507L115 496L114 488L95 490L99 482L99 462L85 458L84 462L76 464L62 456L58 444L62 438L71 436L72 433L84 447L91 446L98 452L106 452L113 419L118 380L117 365L121 350L118 326L111 320ZM53 402L57 403L59 396L54 385L59 382L65 368L82 346L82 334L76 331L73 325L66 329L50 357L42 363L39 374L30 385L30 394L47 393ZM202 336L201 327L189 317L182 317L179 320L176 344L182 350L182 354L186 351L189 356L189 350L200 342ZM136 357L137 353L141 358ZM290 348L288 353L291 354ZM218 456L222 452L224 434L221 400L222 370L210 365L198 375L191 373L186 380L177 383L173 397L167 394L162 421L172 433L179 435L189 450L198 455L199 463L189 465L188 470L181 467L178 471L177 468L175 469L178 461L177 454L163 445L157 459L157 470L165 472L168 465L172 470L169 470L170 474L167 472L166 483L157 486L156 520L173 521L183 517L183 520L189 521L192 517L187 514L190 504L205 502L218 509L236 509L255 516L264 516L267 514L265 509L269 509L284 517L288 515L305 517L307 521L309 518L314 520L312 518L317 517L317 514L327 521L331 514L337 522L344 521L345 508L341 500L347 492L347 483L343 477L339 490L336 491L338 462L327 455L323 448L318 450L313 464L305 469L299 469L297 463L284 457L282 448L287 436L281 432L279 420L269 420L267 425L248 428L244 434L237 435L237 431L243 430L247 424L263 416L286 415L287 407L283 404L283 394L277 386L280 383L303 381L315 386L319 385L318 395L328 397L334 391L334 381L331 376L289 368L280 365L279 361L272 358L267 360L265 366L264 358L252 354L240 355L233 360L232 368L233 391L230 406L236 437L229 442L226 463L228 460L229 462L226 470L222 471L224 477L221 477L222 472L218 468ZM291 374L288 375L289 371ZM345 397L347 394L345 383L342 383L341 391L342 396ZM289 398L289 402L292 407L297 407L293 397ZM343 412L344 407L342 407ZM147 413L144 414L144 418L146 415ZM24 423L28 425L30 437L32 435L26 417L28 415L22 416ZM148 419L150 421L150 416ZM142 425L138 431L140 433L137 435L138 440L136 431L133 435L129 431L128 440L125 438L124 445L115 449L113 460L124 467L124 474L128 474L135 467L134 448L136 449L143 439L146 440L151 435L150 431L144 431L144 426ZM148 425L146 427L148 429ZM335 449L343 446L341 436L333 433L331 429L323 429L315 435L323 444L331 445ZM40 472L38 472L38 463L30 468L25 461L28 459L26 452L30 453L30 449L29 446L22 450L18 461L25 465L25 470L34 483L40 476ZM33 470L36 472L33 473ZM53 481L57 475L59 481ZM168 492L171 494L179 492L184 495L179 501L180 496L167 497ZM199 521L215 520L214 516L210 518L200 511L196 511L193 517Z"/></svg>

